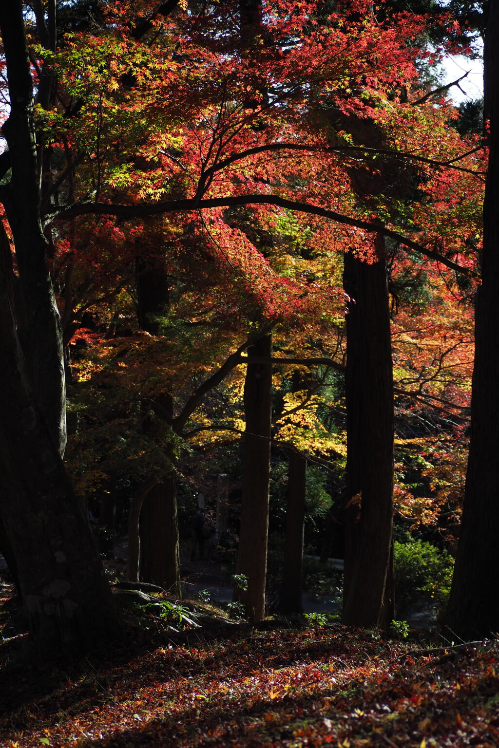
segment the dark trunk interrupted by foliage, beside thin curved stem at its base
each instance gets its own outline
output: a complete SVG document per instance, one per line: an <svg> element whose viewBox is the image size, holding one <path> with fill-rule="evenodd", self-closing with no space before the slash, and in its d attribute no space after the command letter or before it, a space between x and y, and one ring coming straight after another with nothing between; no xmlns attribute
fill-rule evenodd
<svg viewBox="0 0 499 748"><path fill-rule="evenodd" d="M159 334L159 316L168 310L168 277L164 261L155 266L137 260L138 322L151 334ZM171 425L173 398L159 393L151 404L156 417ZM145 426L147 428L147 424ZM141 509L140 576L170 589L180 597L180 550L177 520L177 481L173 468L148 492Z"/></svg>

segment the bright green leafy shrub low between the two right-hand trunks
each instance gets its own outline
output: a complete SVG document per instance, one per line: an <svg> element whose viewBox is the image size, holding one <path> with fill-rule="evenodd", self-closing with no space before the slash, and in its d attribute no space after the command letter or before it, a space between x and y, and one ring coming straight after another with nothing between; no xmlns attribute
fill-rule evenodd
<svg viewBox="0 0 499 748"><path fill-rule="evenodd" d="M397 616L444 604L450 592L454 560L447 551L407 536L394 542L394 583Z"/></svg>

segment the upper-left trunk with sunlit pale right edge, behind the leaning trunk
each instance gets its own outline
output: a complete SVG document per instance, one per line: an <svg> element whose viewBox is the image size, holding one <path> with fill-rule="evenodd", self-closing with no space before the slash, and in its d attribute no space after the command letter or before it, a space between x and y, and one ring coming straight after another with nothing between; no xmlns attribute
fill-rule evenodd
<svg viewBox="0 0 499 748"><path fill-rule="evenodd" d="M10 95L10 115L1 128L12 177L1 188L13 233L23 304L18 334L27 373L59 453L66 446L66 389L61 319L47 263L40 220L40 173L34 130L34 93L22 2L0 4L0 28Z"/></svg>

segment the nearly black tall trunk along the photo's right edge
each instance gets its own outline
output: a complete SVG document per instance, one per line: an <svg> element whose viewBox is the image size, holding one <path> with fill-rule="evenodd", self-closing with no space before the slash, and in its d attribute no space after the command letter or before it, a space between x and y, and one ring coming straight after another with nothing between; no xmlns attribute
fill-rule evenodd
<svg viewBox="0 0 499 748"><path fill-rule="evenodd" d="M499 7L489 3L484 110L489 168L483 203L482 283L475 312L471 443L465 502L449 607L450 636L480 639L499 631Z"/></svg>

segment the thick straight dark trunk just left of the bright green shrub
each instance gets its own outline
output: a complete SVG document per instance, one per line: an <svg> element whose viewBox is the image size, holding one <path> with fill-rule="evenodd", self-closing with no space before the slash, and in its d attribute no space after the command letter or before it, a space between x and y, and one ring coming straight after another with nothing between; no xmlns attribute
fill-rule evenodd
<svg viewBox="0 0 499 748"><path fill-rule="evenodd" d="M383 239L377 262L345 256L346 512L343 623L388 629L393 618L391 546L394 390Z"/></svg>

